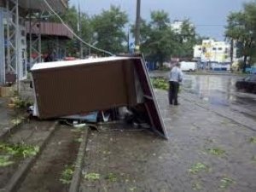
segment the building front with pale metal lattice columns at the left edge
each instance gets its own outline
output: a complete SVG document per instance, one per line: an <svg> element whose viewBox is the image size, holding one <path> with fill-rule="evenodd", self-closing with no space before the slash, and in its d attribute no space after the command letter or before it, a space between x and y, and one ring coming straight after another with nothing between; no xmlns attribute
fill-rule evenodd
<svg viewBox="0 0 256 192"><path fill-rule="evenodd" d="M31 57L27 56L27 45L30 52L37 51L37 62L41 61L40 22L51 9L64 12L67 0L0 0L0 85L9 79L26 79L27 57ZM25 20L39 32L27 34Z"/></svg>

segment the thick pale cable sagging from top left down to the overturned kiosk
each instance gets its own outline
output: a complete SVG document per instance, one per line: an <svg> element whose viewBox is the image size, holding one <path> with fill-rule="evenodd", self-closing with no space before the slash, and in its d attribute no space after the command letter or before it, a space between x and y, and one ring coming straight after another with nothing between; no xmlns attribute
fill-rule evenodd
<svg viewBox="0 0 256 192"><path fill-rule="evenodd" d="M73 30L72 30L69 26L67 26L67 24L64 22L64 20L61 19L61 16L58 15L58 14L55 12L55 10L49 5L49 3L48 3L46 0L44 0L44 3L49 7L49 9L52 11L52 13L55 14L55 16L56 16L59 20L61 20L61 23L62 23L64 26L67 27L67 30L68 30L69 32L71 32L75 38L79 39L80 42L82 42L83 44L86 44L87 46L89 46L89 47L92 48L92 49L96 49L96 50L99 50L99 51L101 51L101 52L103 52L103 53L106 53L106 54L108 54L108 55L114 56L114 55L113 55L111 52L109 52L108 50L96 48L95 46L93 46L93 45L91 45L91 44L85 42L82 38L79 37L79 35L77 35L75 32L73 32Z"/></svg>

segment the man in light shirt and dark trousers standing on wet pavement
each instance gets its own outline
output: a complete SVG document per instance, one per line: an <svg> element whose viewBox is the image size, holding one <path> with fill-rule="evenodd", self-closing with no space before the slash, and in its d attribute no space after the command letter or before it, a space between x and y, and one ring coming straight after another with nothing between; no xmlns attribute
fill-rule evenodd
<svg viewBox="0 0 256 192"><path fill-rule="evenodd" d="M178 105L177 103L177 91L179 87L179 83L183 80L183 73L180 69L180 63L177 63L174 66L170 73L169 79L169 104Z"/></svg>

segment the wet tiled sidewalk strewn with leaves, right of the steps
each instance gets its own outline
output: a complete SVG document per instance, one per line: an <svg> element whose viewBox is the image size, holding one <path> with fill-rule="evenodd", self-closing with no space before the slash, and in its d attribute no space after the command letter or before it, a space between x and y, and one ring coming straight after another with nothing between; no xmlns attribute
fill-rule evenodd
<svg viewBox="0 0 256 192"><path fill-rule="evenodd" d="M182 94L156 90L169 140L148 131L92 131L80 191L256 191L256 131ZM255 122L256 123L256 122Z"/></svg>

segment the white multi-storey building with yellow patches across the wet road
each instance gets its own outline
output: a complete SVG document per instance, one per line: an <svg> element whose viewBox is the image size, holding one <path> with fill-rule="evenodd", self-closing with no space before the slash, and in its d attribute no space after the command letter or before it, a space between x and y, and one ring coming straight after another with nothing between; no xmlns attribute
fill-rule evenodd
<svg viewBox="0 0 256 192"><path fill-rule="evenodd" d="M230 44L224 41L206 39L194 47L194 58L201 62L230 63ZM236 61L236 48L233 48L233 61Z"/></svg>

